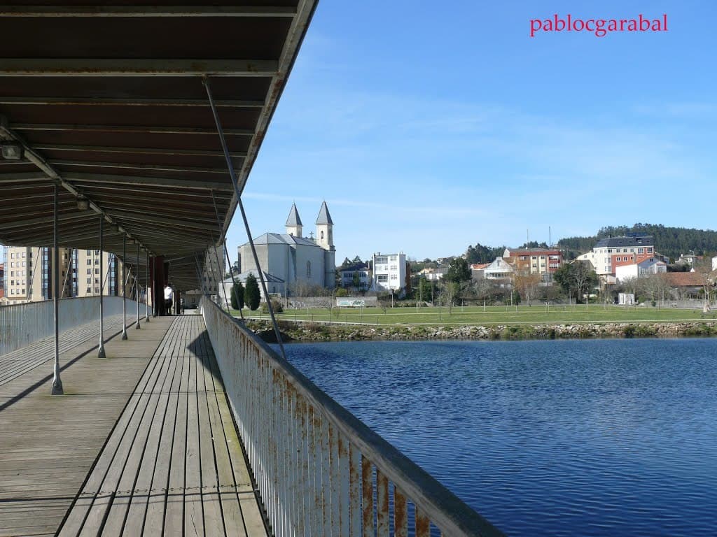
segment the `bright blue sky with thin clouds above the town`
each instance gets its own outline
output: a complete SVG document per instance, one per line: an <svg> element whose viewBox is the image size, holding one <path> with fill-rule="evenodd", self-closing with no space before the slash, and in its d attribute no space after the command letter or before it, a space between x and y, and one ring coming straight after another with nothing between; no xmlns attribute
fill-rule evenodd
<svg viewBox="0 0 717 537"><path fill-rule="evenodd" d="M669 30L529 37L556 13ZM715 228L716 24L711 0L322 0L244 190L252 233L295 200L308 235L324 199L338 262Z"/></svg>

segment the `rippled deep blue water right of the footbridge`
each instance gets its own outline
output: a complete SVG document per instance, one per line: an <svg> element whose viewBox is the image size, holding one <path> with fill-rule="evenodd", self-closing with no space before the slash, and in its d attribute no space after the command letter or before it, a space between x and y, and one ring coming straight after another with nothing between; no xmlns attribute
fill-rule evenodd
<svg viewBox="0 0 717 537"><path fill-rule="evenodd" d="M286 349L511 535L717 535L717 339Z"/></svg>

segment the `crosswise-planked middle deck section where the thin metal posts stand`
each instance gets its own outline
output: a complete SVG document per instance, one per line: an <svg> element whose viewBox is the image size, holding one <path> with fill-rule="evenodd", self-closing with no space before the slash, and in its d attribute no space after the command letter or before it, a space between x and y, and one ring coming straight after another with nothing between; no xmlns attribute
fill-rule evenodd
<svg viewBox="0 0 717 537"><path fill-rule="evenodd" d="M0 386L0 536L54 535L173 319L62 353L65 395L51 361Z"/></svg>

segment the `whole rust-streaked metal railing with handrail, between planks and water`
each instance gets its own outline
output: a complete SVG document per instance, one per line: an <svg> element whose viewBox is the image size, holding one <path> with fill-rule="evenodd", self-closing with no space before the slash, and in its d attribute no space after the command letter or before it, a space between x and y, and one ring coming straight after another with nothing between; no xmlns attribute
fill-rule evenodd
<svg viewBox="0 0 717 537"><path fill-rule="evenodd" d="M503 535L216 304L201 314L275 536Z"/></svg>

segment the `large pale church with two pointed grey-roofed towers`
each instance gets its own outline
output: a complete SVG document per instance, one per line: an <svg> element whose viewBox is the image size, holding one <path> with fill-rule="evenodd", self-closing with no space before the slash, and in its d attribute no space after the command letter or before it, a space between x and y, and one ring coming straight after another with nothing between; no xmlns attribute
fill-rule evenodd
<svg viewBox="0 0 717 537"><path fill-rule="evenodd" d="M316 218L316 235L303 236L303 224L296 204L286 219L286 233L264 233L254 239L257 257L270 294L292 296L298 284L333 289L336 286L336 248L333 246L333 221L326 201ZM239 246L239 280L249 274L258 277L249 243ZM231 282L231 280L228 280Z"/></svg>

